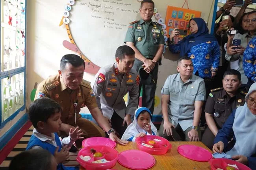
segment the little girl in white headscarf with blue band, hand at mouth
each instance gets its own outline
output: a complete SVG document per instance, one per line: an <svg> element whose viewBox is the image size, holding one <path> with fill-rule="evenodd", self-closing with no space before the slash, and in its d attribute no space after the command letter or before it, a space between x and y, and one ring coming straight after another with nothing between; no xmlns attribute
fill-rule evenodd
<svg viewBox="0 0 256 170"><path fill-rule="evenodd" d="M125 130L122 140L135 141L136 137L156 135L156 127L151 121L151 112L146 107L135 110L134 121Z"/></svg>

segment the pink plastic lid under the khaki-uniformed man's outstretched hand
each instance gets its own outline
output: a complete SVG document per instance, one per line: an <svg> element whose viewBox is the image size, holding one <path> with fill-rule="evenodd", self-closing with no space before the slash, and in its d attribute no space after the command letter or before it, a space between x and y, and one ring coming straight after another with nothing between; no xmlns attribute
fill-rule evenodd
<svg viewBox="0 0 256 170"><path fill-rule="evenodd" d="M106 137L90 137L83 140L82 143L83 147L90 146L90 145L105 145L111 148L115 148L117 145L114 141Z"/></svg>

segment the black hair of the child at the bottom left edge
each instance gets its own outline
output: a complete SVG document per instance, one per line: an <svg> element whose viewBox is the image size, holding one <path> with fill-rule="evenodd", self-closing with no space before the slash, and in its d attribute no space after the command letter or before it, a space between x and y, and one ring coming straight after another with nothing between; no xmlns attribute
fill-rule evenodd
<svg viewBox="0 0 256 170"><path fill-rule="evenodd" d="M53 155L45 149L31 149L19 153L11 160L9 170L49 170Z"/></svg>

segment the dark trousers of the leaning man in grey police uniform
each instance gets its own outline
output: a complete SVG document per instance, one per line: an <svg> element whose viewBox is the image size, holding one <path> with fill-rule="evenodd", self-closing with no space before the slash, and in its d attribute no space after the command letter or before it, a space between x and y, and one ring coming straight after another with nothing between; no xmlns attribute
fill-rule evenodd
<svg viewBox="0 0 256 170"><path fill-rule="evenodd" d="M117 136L120 138L124 134L124 131L127 128L127 124L125 123L124 126L122 126L122 122L124 119L122 119L115 111L111 118L111 126L112 128L117 132Z"/></svg>

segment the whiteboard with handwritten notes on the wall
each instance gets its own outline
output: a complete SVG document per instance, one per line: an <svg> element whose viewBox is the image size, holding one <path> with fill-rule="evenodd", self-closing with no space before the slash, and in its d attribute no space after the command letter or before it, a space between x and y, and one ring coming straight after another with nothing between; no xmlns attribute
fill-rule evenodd
<svg viewBox="0 0 256 170"><path fill-rule="evenodd" d="M82 53L103 67L115 62L129 23L139 20L137 0L79 0L70 11L70 31Z"/></svg>

